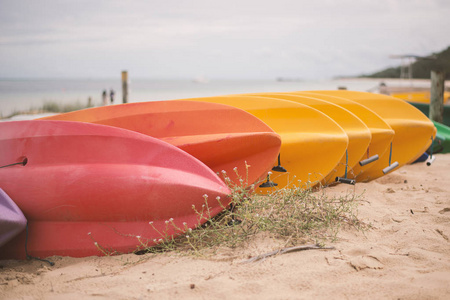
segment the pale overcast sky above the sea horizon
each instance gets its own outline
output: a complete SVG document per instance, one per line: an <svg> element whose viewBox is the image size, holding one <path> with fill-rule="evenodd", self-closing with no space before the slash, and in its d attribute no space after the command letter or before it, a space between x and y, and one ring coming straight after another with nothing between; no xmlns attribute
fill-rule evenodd
<svg viewBox="0 0 450 300"><path fill-rule="evenodd" d="M0 78L327 79L449 46L449 0L0 0Z"/></svg>

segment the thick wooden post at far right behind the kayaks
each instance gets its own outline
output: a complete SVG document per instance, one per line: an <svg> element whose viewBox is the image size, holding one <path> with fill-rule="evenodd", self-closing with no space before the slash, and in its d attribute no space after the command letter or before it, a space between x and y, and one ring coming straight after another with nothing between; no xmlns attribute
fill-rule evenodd
<svg viewBox="0 0 450 300"><path fill-rule="evenodd" d="M445 73L431 71L430 114L431 121L442 123L444 120Z"/></svg>

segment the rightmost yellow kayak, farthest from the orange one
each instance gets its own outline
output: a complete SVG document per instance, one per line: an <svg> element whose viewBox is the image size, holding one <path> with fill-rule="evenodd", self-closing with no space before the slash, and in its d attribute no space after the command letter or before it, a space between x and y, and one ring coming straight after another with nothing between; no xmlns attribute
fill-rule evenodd
<svg viewBox="0 0 450 300"><path fill-rule="evenodd" d="M414 162L431 145L436 128L422 112L407 102L391 96L355 91L315 91L350 99L373 110L394 130L392 147L380 161L386 165L383 172L371 174L383 176L395 168Z"/></svg>

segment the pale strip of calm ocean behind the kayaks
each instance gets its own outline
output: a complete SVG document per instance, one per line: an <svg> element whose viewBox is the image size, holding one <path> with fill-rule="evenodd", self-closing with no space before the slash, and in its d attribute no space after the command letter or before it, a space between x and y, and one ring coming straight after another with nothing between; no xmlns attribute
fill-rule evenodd
<svg viewBox="0 0 450 300"><path fill-rule="evenodd" d="M329 80L157 80L129 81L129 102L185 99L256 92L335 90L346 87L355 91L374 91L380 82L387 86L429 86L429 81L399 79L329 79ZM45 102L58 104L102 103L102 92L115 91L114 104L122 103L120 78L99 79L0 79L0 117L42 107Z"/></svg>

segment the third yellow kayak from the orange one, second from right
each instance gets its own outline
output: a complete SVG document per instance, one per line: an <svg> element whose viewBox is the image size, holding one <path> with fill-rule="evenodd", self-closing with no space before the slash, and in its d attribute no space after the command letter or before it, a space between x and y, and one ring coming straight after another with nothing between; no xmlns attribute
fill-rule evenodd
<svg viewBox="0 0 450 300"><path fill-rule="evenodd" d="M342 97L317 94L313 92L292 92L296 95L315 97L339 105L357 115L370 129L372 140L367 148L366 157L358 165L353 167L353 176L357 182L373 179L371 174L378 174L386 167L380 161L386 152L389 152L390 144L394 138L394 130L384 119L367 107ZM291 94L291 92L290 92ZM370 171L370 173L369 173Z"/></svg>

